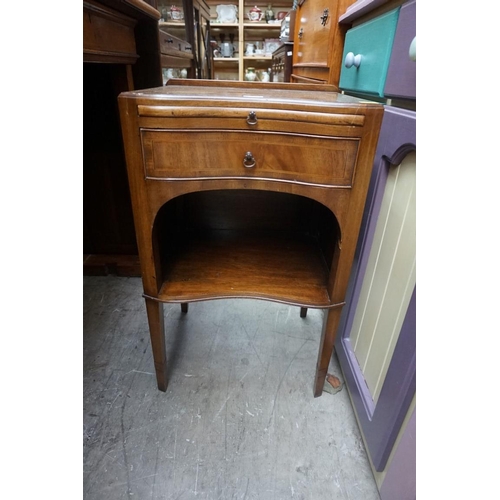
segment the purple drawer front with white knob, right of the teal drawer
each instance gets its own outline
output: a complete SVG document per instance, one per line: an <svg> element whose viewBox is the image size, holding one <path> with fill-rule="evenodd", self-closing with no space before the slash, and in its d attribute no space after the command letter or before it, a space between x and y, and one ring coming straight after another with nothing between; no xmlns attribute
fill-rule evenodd
<svg viewBox="0 0 500 500"><path fill-rule="evenodd" d="M401 6L394 36L391 60L387 71L384 94L415 99L417 96L417 64L410 59L410 45L416 36L416 1Z"/></svg>

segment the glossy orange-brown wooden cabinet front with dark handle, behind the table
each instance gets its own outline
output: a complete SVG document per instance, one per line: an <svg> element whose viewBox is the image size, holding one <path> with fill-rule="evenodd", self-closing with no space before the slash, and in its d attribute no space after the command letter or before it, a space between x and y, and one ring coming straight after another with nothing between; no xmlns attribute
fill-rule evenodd
<svg viewBox="0 0 500 500"><path fill-rule="evenodd" d="M331 12L331 2L327 0L319 0L319 2L305 2L301 6L297 33L300 36L295 37L296 57L293 61L296 64L311 64L314 66L328 67L328 50L330 44L328 38L330 36L330 28L335 22L330 15L323 26L321 16L325 9Z"/></svg>

